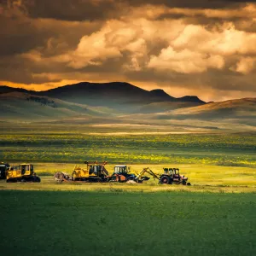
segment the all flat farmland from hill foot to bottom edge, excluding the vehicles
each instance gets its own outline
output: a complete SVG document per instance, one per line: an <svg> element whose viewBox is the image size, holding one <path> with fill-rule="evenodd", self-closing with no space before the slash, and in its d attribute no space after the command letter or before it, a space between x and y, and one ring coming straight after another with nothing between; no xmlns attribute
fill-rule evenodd
<svg viewBox="0 0 256 256"><path fill-rule="evenodd" d="M29 128L28 128L29 127ZM253 255L255 133L172 133L14 125L1 160L32 162L41 183L0 181L4 255ZM84 160L180 168L191 186L55 183Z"/></svg>

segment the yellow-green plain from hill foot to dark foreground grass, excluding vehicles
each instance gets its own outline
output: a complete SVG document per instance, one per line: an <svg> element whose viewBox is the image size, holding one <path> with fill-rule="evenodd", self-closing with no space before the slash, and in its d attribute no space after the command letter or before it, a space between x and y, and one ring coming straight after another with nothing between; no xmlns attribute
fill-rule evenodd
<svg viewBox="0 0 256 256"><path fill-rule="evenodd" d="M55 172L71 173L74 164L83 165L84 160L107 160L110 173L115 164L129 165L131 172L150 167L161 173L165 166L178 167L196 186L207 186L207 190L212 186L244 191L256 186L255 135L253 132L177 133L170 129L151 127L143 130L140 126L122 125L113 128L108 125L4 123L0 135L0 159L12 164L32 162L38 175L44 176L44 188L47 184L48 189L55 189L52 177L47 177ZM149 191L154 185L155 189L162 188L151 179L144 190ZM19 185L6 187L1 183L2 189L12 186L18 188ZM39 185L33 185L33 188L36 186ZM72 184L68 186L77 189ZM86 190L91 186L80 188ZM20 185L20 188L26 188L26 185ZM137 187L128 187L128 190L131 188ZM214 191L218 192L218 189Z"/></svg>

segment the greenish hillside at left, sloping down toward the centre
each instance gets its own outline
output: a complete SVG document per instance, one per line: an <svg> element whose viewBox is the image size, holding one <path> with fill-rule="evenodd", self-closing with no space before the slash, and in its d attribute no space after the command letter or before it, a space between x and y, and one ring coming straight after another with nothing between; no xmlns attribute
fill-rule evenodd
<svg viewBox="0 0 256 256"><path fill-rule="evenodd" d="M90 108L90 106L64 102L47 96L35 96L13 91L0 94L0 118L2 119L61 119L66 117L112 116L113 109Z"/></svg>

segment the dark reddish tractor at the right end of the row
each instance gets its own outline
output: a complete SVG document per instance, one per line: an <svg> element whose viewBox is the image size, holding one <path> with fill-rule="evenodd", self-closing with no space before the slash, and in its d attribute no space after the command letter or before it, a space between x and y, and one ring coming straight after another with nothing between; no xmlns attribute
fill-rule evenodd
<svg viewBox="0 0 256 256"><path fill-rule="evenodd" d="M159 182L161 184L182 183L183 185L190 185L190 183L188 183L188 177L184 177L180 175L178 168L163 168L163 169L164 169L164 173L161 174L159 177Z"/></svg>

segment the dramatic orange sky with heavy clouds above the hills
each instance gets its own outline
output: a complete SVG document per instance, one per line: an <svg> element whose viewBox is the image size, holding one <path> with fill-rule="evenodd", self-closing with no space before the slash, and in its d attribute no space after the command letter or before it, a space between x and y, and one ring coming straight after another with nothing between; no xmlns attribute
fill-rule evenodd
<svg viewBox="0 0 256 256"><path fill-rule="evenodd" d="M256 97L256 0L0 0L0 84Z"/></svg>

